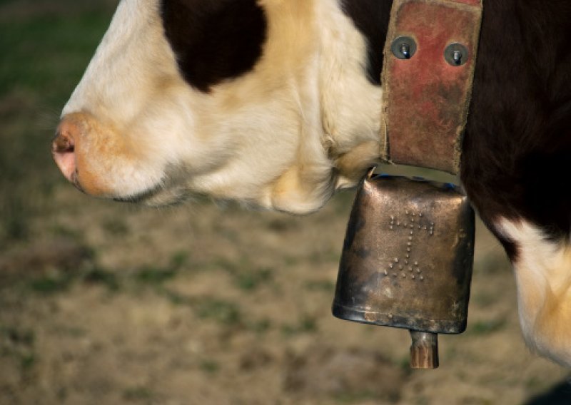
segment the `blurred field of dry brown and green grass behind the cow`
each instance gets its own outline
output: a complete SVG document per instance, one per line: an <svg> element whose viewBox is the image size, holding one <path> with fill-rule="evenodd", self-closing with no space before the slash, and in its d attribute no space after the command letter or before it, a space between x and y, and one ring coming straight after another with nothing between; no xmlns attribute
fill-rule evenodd
<svg viewBox="0 0 571 405"><path fill-rule="evenodd" d="M0 404L571 404L482 226L468 330L415 371L408 332L330 314L352 193L293 217L67 184L49 143L115 6L0 0Z"/></svg>

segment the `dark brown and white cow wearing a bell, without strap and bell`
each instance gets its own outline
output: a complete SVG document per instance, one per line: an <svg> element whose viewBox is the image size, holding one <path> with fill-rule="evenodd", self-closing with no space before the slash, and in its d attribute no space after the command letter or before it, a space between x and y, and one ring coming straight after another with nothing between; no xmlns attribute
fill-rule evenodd
<svg viewBox="0 0 571 405"><path fill-rule="evenodd" d="M390 0L121 0L52 150L84 193L314 212L380 160ZM571 366L571 2L485 1L460 180Z"/></svg>

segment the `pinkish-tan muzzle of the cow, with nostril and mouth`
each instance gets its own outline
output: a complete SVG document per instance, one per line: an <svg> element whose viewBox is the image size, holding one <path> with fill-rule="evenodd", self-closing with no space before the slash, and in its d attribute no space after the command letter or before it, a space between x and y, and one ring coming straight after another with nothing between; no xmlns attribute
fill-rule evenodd
<svg viewBox="0 0 571 405"><path fill-rule="evenodd" d="M168 181L168 162L155 144L141 138L141 130L131 125L118 128L91 113L70 113L62 118L51 150L61 173L86 194L150 205L180 200L181 192L171 190Z"/></svg>

